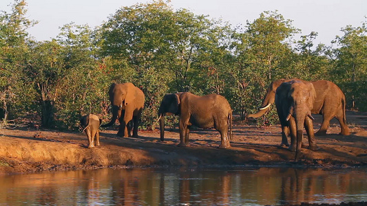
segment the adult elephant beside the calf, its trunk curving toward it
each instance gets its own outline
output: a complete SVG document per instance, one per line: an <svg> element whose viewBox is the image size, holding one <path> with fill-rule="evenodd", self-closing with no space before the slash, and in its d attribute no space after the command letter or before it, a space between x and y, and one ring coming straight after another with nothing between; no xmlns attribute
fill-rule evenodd
<svg viewBox="0 0 367 206"><path fill-rule="evenodd" d="M120 122L118 137L138 137L139 119L145 100L143 91L131 82L125 84L113 83L109 87L108 94L112 106L112 119L111 122L103 124L102 127L112 126L118 119ZM133 136L131 136L132 126L130 124L134 125Z"/></svg>

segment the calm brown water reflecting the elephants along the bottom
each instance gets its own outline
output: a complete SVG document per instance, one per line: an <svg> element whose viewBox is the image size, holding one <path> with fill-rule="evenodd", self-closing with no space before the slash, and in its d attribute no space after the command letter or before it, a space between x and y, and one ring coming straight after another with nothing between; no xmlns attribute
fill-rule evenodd
<svg viewBox="0 0 367 206"><path fill-rule="evenodd" d="M0 205L282 205L367 201L367 170L90 170L0 176Z"/></svg>

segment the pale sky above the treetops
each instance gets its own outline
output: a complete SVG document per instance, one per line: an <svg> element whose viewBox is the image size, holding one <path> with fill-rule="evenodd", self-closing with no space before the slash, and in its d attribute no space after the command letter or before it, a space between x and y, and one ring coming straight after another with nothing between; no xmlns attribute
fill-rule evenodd
<svg viewBox="0 0 367 206"><path fill-rule="evenodd" d="M74 22L95 27L107 21L118 8L147 3L146 0L27 0L28 19L39 21L28 31L37 41L51 40L59 27ZM10 11L12 0L1 0L0 10ZM194 14L228 21L231 25L246 25L264 11L278 10L284 19L293 20L293 26L302 35L318 32L315 43L330 45L342 27L361 26L367 15L367 0L171 0L175 9L187 8ZM301 34L300 34L301 35ZM295 37L297 40L299 37Z"/></svg>

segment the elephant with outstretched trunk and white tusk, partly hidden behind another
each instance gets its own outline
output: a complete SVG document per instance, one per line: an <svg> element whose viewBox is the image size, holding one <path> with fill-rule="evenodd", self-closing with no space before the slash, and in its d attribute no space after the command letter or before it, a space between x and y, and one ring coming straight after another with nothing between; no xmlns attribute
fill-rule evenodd
<svg viewBox="0 0 367 206"><path fill-rule="evenodd" d="M277 87L283 82L290 82L292 80L298 79L281 79L271 82L266 95L262 100L262 105L260 106L260 111L255 114L248 115L248 117L260 117L269 111L271 104L275 100L275 91ZM304 80L299 80L306 82ZM322 125L315 135L326 135L326 130L330 124L330 120L336 117L339 121L341 132L340 135L350 135L348 125L346 124L346 98L342 90L337 87L333 82L326 80L318 80L311 82L316 91L316 99L313 104L313 109L311 113L322 115ZM284 132L284 131L282 131ZM284 142L282 141L282 144ZM286 144L286 146L288 146Z"/></svg>

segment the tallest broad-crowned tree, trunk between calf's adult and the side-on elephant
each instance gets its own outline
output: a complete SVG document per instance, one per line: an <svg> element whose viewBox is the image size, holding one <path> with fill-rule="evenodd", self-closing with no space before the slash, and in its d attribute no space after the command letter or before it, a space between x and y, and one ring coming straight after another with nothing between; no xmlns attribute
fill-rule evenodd
<svg viewBox="0 0 367 206"><path fill-rule="evenodd" d="M145 93L143 121L150 127L171 79L167 68L174 16L162 1L120 8L100 30L101 56L112 63L114 82L133 82ZM167 75L168 74L168 75Z"/></svg>

